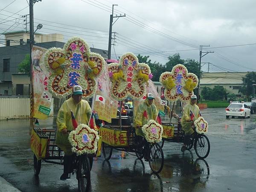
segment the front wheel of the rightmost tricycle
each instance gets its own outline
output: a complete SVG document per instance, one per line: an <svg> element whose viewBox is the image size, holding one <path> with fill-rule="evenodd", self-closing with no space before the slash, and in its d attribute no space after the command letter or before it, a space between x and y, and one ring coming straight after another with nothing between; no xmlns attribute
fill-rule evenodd
<svg viewBox="0 0 256 192"><path fill-rule="evenodd" d="M206 158L210 152L210 142L206 135L200 134L195 139L195 153L199 158Z"/></svg>

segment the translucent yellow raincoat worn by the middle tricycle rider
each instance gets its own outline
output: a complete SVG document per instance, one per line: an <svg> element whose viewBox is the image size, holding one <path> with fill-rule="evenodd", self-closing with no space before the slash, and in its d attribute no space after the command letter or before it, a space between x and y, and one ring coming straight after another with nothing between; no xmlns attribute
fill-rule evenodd
<svg viewBox="0 0 256 192"><path fill-rule="evenodd" d="M143 126L148 123L150 119L156 120L157 119L157 107L152 104L148 104L148 99L139 105L137 109L136 116L134 117L134 127L140 125ZM136 128L136 134L143 136L141 128Z"/></svg>

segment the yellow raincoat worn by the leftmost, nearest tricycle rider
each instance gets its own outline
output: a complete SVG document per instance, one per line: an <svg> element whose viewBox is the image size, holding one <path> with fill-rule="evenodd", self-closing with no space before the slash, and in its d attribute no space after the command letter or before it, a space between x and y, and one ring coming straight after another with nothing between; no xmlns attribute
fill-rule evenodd
<svg viewBox="0 0 256 192"><path fill-rule="evenodd" d="M73 98L70 97L61 105L57 116L58 131L56 133L56 145L64 151L65 155L72 154L71 145L67 139L68 133L64 134L61 132L64 128L67 128L68 131L73 130L70 110L74 113L78 125L81 123L88 125L92 113L89 103L83 99L78 104L75 104Z"/></svg>

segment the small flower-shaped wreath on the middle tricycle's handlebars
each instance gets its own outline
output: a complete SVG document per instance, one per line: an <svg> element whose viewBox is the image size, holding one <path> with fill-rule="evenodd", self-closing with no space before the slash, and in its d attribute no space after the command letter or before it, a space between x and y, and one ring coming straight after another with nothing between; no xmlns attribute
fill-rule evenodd
<svg viewBox="0 0 256 192"><path fill-rule="evenodd" d="M162 140L163 127L156 121L149 120L141 129L149 143L158 143Z"/></svg>

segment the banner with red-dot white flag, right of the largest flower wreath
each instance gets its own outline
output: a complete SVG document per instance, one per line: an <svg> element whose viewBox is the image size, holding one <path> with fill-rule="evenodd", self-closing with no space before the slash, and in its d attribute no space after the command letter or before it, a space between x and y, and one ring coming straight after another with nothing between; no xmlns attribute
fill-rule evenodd
<svg viewBox="0 0 256 192"><path fill-rule="evenodd" d="M116 118L118 102L110 96L110 79L107 64L105 64L102 75L97 79L96 85L93 110L98 113L99 119L111 122L111 118Z"/></svg>

